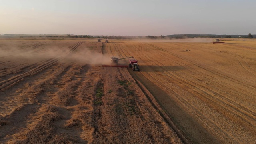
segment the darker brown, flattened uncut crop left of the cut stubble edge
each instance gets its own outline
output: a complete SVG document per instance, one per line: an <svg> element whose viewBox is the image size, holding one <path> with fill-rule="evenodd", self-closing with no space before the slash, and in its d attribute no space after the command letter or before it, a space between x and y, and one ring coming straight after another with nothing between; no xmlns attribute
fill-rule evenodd
<svg viewBox="0 0 256 144"><path fill-rule="evenodd" d="M110 63L102 49L92 40L0 40L0 142L188 143L126 68L99 66Z"/></svg>

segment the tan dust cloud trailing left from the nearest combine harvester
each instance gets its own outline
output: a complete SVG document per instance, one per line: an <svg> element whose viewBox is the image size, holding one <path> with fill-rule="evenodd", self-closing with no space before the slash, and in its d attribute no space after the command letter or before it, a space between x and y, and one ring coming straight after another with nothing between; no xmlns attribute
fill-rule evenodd
<svg viewBox="0 0 256 144"><path fill-rule="evenodd" d="M69 48L60 48L58 46L49 46L36 49L22 49L15 46L0 46L0 61L16 60L27 62L40 62L58 58L60 62L78 62L81 64L110 64L110 58L100 52L94 52L89 48L78 48L70 51Z"/></svg>

